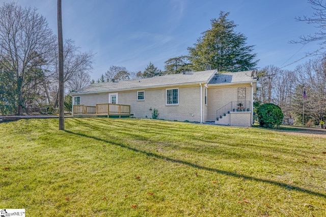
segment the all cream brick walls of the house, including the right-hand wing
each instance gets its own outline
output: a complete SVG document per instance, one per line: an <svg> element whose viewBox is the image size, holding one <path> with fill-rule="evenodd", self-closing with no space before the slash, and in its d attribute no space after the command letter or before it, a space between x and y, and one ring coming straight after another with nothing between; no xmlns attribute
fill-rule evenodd
<svg viewBox="0 0 326 217"><path fill-rule="evenodd" d="M207 88L207 105L205 105L205 86L202 86L203 121L214 121L216 110L231 101L237 101L238 87L246 87L247 101L251 100L250 85L209 86ZM118 104L130 105L130 113L134 117L152 117L152 112L158 110L158 118L179 121L200 121L200 85L188 87L169 87L179 89L179 105L166 105L166 88L144 89L145 100L137 100L137 91L123 91L118 93ZM95 106L98 103L108 103L108 93L81 95L80 104ZM152 110L149 110L149 109ZM241 119L242 122L236 122ZM250 126L250 113L231 118L233 126Z"/></svg>

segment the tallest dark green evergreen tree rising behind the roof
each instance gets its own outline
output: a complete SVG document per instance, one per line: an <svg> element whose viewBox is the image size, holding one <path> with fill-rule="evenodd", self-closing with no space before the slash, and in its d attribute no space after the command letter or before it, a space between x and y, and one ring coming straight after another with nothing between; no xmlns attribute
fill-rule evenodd
<svg viewBox="0 0 326 217"><path fill-rule="evenodd" d="M248 46L247 37L235 32L237 26L227 19L229 13L220 12L218 19L211 19L211 29L202 33L194 47L188 47L189 59L195 71L246 71L254 69L258 60Z"/></svg>

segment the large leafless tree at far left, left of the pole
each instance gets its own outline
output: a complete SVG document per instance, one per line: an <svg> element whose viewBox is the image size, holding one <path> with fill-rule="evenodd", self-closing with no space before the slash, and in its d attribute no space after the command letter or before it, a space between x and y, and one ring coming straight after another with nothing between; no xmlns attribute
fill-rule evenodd
<svg viewBox="0 0 326 217"><path fill-rule="evenodd" d="M26 77L32 69L48 65L53 60L56 37L37 9L22 8L16 3L4 3L0 8L0 64L12 72L17 85L17 114L23 112L28 91Z"/></svg>

